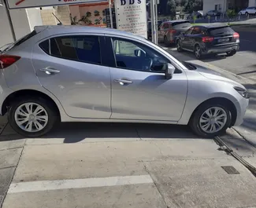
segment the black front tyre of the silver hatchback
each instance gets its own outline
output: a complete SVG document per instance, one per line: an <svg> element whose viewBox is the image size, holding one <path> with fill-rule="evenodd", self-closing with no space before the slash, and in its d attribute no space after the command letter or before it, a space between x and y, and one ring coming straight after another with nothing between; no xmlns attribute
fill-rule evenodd
<svg viewBox="0 0 256 208"><path fill-rule="evenodd" d="M231 113L230 111L228 111L227 107L228 107L227 104L221 104L220 102L218 103L211 102L211 103L202 104L200 108L198 108L198 110L195 111L191 117L191 120L189 122L189 126L191 127L191 130L200 137L208 137L208 138L216 137L224 134L231 124ZM221 113L217 115L222 115L222 114L224 115L223 117L224 119L222 118L217 119L217 123L214 120L212 121L209 120L208 121L209 123L213 122L214 124L210 124L208 129L206 129L209 123L200 122L200 121L206 121L205 118L208 116L206 114L206 111L210 109L213 110L214 108L219 110ZM211 111L211 112L212 112L212 115L214 115L215 111ZM220 123L223 123L223 124L220 124ZM212 126L215 126L216 131L210 132ZM205 127L205 130L203 129L203 127ZM217 130L217 128L219 128L219 130Z"/></svg>

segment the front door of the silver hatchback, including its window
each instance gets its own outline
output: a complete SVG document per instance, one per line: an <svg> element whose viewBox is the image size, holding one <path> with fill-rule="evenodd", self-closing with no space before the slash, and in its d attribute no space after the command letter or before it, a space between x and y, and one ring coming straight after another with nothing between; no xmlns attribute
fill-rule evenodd
<svg viewBox="0 0 256 208"><path fill-rule="evenodd" d="M110 119L177 122L187 97L185 72L177 70L172 79L165 79L164 65L172 61L159 53L158 46L132 38L112 37L109 42L113 47Z"/></svg>

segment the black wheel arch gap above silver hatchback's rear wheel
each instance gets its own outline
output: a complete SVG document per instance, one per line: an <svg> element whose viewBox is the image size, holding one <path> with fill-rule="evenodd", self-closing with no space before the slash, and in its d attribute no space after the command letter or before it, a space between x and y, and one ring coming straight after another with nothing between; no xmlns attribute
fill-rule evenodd
<svg viewBox="0 0 256 208"><path fill-rule="evenodd" d="M58 112L58 115L61 116L61 111L58 108L58 104L46 93L42 93L35 89L20 89L16 92L10 93L6 100L2 104L2 115L5 115L8 111L9 105L14 101L14 99L19 99L20 97L42 97L46 100L49 100L54 106L55 110Z"/></svg>

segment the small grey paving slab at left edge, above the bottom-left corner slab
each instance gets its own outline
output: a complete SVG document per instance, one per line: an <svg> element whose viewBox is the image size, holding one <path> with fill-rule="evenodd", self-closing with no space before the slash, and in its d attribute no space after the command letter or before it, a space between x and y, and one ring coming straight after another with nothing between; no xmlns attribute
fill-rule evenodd
<svg viewBox="0 0 256 208"><path fill-rule="evenodd" d="M17 166L22 148L6 149L0 151L0 169Z"/></svg>

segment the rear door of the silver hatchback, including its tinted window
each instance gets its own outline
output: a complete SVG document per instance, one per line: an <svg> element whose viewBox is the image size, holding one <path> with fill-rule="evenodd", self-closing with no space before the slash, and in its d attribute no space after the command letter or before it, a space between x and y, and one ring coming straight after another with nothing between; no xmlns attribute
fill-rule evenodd
<svg viewBox="0 0 256 208"><path fill-rule="evenodd" d="M109 67L102 64L104 37L64 35L34 46L32 64L41 85L70 117L109 119Z"/></svg>

